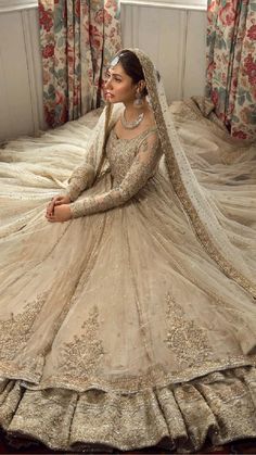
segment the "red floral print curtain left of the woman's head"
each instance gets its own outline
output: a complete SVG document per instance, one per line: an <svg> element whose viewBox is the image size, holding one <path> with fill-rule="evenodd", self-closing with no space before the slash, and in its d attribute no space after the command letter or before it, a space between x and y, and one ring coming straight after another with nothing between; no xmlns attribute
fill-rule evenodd
<svg viewBox="0 0 256 455"><path fill-rule="evenodd" d="M121 47L118 0L39 0L39 24L44 117L55 127L101 104Z"/></svg>

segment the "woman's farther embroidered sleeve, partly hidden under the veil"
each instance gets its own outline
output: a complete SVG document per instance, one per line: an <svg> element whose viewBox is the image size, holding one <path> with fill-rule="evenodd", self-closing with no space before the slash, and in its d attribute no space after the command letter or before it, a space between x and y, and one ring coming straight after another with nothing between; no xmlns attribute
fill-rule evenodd
<svg viewBox="0 0 256 455"><path fill-rule="evenodd" d="M93 167L93 146L87 153L84 163L76 167L68 179L68 187L66 188L66 195L71 201L75 201L78 195L87 188L91 187L94 178Z"/></svg>

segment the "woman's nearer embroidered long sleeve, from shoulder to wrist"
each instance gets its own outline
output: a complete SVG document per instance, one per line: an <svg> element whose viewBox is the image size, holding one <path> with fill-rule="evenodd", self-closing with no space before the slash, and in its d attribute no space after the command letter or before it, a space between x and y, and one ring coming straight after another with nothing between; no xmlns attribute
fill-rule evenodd
<svg viewBox="0 0 256 455"><path fill-rule="evenodd" d="M107 192L85 198L71 204L72 216L78 218L79 216L104 212L124 204L137 194L149 178L152 177L159 157L158 137L155 132L151 132L141 142L139 151L121 184Z"/></svg>

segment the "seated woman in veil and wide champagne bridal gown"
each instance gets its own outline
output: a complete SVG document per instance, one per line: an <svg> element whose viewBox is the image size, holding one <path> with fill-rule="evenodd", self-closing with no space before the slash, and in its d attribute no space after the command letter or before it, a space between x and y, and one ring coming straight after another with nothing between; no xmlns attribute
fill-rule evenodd
<svg viewBox="0 0 256 455"><path fill-rule="evenodd" d="M227 166L188 153L193 172L158 79L141 51L118 53L50 223L31 208L4 226L0 418L13 438L193 452L256 437L255 154Z"/></svg>

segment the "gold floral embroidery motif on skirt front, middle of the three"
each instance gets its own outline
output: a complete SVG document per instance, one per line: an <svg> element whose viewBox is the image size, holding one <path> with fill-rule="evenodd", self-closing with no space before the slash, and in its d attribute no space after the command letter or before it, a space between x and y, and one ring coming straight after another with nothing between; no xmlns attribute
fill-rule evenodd
<svg viewBox="0 0 256 455"><path fill-rule="evenodd" d="M82 334L75 336L61 350L59 368L64 375L71 376L76 371L78 377L85 377L95 371L104 354L99 327L99 309L94 306L81 326Z"/></svg>

